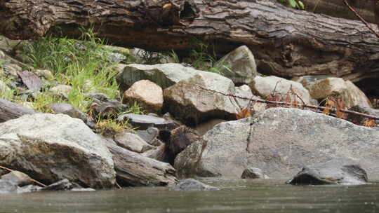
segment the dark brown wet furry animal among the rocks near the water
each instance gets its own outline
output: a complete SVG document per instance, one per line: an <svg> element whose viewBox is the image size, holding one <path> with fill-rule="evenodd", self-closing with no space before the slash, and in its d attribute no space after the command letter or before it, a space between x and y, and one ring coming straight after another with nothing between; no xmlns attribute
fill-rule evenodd
<svg viewBox="0 0 379 213"><path fill-rule="evenodd" d="M199 140L200 136L196 130L181 125L171 131L160 130L159 139L161 139L164 144L159 146L153 158L173 165L176 156L189 146L189 144Z"/></svg>

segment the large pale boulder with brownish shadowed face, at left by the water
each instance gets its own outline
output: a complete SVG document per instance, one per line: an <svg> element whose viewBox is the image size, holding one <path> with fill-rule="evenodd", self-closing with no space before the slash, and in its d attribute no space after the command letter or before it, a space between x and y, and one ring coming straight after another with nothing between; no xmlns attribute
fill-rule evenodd
<svg viewBox="0 0 379 213"><path fill-rule="evenodd" d="M58 114L25 115L0 125L0 165L51 184L114 185L112 154L83 121Z"/></svg>

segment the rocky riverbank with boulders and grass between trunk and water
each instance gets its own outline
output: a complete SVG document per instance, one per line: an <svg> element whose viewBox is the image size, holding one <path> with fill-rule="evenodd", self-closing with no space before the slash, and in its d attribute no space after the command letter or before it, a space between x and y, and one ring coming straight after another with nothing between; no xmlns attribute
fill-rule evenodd
<svg viewBox="0 0 379 213"><path fill-rule="evenodd" d="M324 164L323 184L379 175L379 111L350 81L265 76L246 46L218 58L199 43L178 57L84 37L1 49L1 166L68 188L173 186L252 168L289 179Z"/></svg>

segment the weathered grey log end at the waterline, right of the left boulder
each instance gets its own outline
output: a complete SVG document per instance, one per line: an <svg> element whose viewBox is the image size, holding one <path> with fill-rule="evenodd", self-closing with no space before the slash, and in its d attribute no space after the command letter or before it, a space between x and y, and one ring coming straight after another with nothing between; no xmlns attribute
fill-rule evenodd
<svg viewBox="0 0 379 213"><path fill-rule="evenodd" d="M160 162L128 151L114 144L107 144L113 154L114 170L121 186L171 186L177 183L175 169Z"/></svg>

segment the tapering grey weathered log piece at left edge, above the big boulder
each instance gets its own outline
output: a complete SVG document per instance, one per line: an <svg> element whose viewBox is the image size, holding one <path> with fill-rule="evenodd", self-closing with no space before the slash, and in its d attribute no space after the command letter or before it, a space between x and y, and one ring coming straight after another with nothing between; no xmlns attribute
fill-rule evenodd
<svg viewBox="0 0 379 213"><path fill-rule="evenodd" d="M27 109L6 99L0 99L0 123L19 118L26 114L35 114L36 111Z"/></svg>

